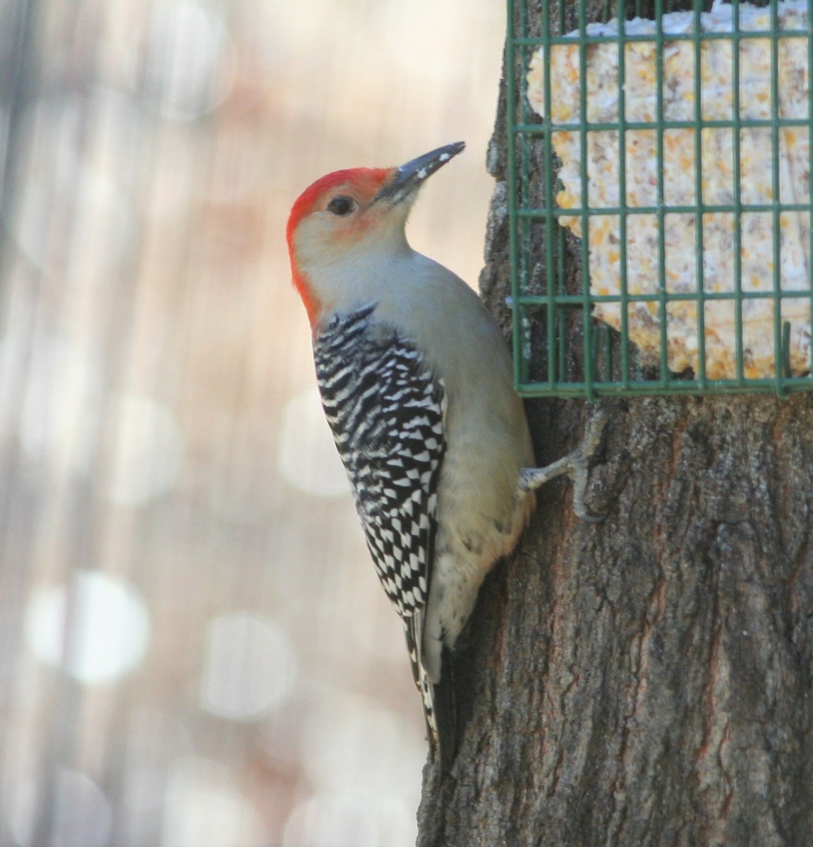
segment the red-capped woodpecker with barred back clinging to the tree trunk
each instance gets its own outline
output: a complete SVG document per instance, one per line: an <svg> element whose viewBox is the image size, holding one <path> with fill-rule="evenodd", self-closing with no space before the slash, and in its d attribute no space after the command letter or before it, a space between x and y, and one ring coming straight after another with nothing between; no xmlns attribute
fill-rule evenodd
<svg viewBox="0 0 813 847"><path fill-rule="evenodd" d="M584 457L600 436L595 426L584 451L534 468L500 330L459 277L406 242L418 188L463 147L328 174L294 203L287 232L324 412L444 767L456 743L445 650L517 544L534 488L575 473L583 516Z"/></svg>

